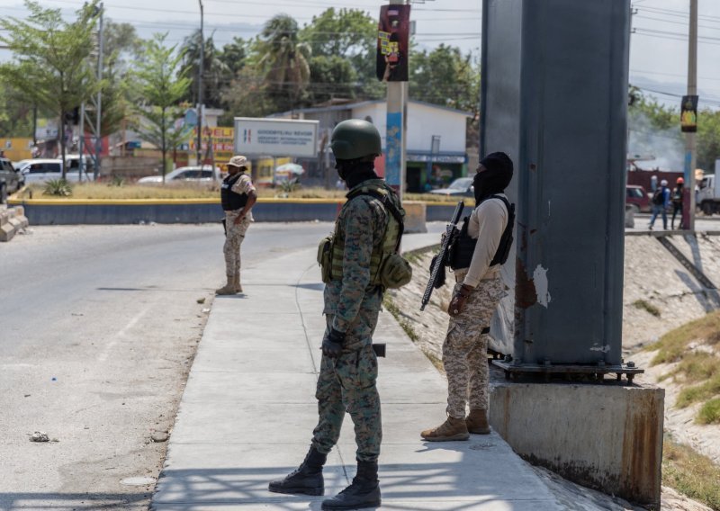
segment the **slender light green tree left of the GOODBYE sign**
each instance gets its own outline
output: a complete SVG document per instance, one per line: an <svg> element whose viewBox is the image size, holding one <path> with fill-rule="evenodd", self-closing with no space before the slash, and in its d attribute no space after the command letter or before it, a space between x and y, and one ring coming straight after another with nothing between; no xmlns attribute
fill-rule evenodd
<svg viewBox="0 0 720 511"><path fill-rule="evenodd" d="M162 153L162 177L165 183L167 151L175 149L186 138L187 133L175 128L175 120L182 110L178 103L190 87L191 79L180 71L184 58L182 52L175 52L176 46L165 46L167 34L155 34L143 49L135 71L139 96L140 137L160 149Z"/></svg>

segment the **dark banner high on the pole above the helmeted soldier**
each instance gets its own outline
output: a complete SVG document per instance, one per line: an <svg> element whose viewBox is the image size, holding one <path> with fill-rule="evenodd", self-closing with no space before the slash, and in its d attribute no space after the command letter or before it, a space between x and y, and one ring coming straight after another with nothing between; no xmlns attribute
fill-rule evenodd
<svg viewBox="0 0 720 511"><path fill-rule="evenodd" d="M410 4L383 5L377 32L377 79L408 81Z"/></svg>

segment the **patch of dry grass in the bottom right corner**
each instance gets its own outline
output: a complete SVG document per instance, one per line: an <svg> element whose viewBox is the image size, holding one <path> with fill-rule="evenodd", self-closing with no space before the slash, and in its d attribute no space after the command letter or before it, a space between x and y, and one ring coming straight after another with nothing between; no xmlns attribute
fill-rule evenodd
<svg viewBox="0 0 720 511"><path fill-rule="evenodd" d="M662 484L720 511L720 467L669 435L662 450Z"/></svg>

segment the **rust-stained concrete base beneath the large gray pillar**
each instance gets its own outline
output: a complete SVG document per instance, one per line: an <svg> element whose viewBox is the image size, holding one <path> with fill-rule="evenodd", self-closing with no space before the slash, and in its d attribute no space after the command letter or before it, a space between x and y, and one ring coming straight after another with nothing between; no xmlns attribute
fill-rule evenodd
<svg viewBox="0 0 720 511"><path fill-rule="evenodd" d="M529 462L659 507L664 400L649 386L506 382L491 390L490 422Z"/></svg>

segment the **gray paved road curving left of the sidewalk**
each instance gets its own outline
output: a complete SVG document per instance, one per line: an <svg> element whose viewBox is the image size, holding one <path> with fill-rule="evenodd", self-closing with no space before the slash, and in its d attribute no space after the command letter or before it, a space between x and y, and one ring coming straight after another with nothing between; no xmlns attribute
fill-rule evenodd
<svg viewBox="0 0 720 511"><path fill-rule="evenodd" d="M257 224L244 264L330 229ZM150 438L173 424L224 278L220 226L31 232L0 246L0 509L147 509L166 445Z"/></svg>

